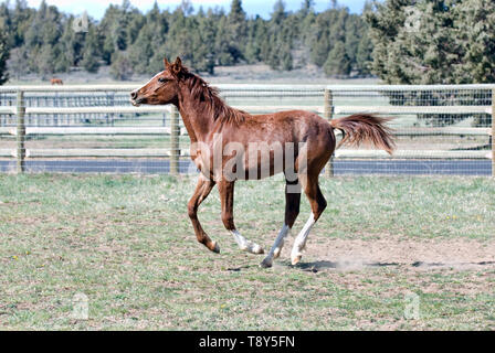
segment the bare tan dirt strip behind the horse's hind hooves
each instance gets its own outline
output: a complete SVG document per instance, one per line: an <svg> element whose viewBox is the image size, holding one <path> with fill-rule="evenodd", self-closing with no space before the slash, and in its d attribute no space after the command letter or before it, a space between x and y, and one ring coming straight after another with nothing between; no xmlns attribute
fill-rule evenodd
<svg viewBox="0 0 495 353"><path fill-rule="evenodd" d="M289 247L287 247L289 248ZM308 270L355 270L408 266L418 269L495 268L495 242L411 239L383 235L375 239L309 238L301 266Z"/></svg>

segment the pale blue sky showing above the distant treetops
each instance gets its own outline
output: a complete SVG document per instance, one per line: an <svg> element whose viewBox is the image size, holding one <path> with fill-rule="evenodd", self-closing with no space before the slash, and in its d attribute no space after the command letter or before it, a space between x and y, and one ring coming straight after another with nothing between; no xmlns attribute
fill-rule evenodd
<svg viewBox="0 0 495 353"><path fill-rule="evenodd" d="M1 0L0 2L4 2L6 0ZM108 4L120 4L122 0L84 0L84 1L75 1L75 0L45 0L49 4L56 6L61 11L81 14L84 11L87 11L89 17L99 20L105 9ZM146 12L147 10L152 8L155 0L130 0L133 6L138 8L141 12ZM157 0L160 9L176 9L178 4L180 4L180 0ZM223 7L225 11L230 9L230 3L232 0L190 0L193 8L197 10L200 6L204 9L214 8L214 7ZM303 0L285 0L286 9L289 11L295 11L301 8ZM41 0L28 0L28 4L33 8L39 8ZM242 7L247 15L260 14L263 18L270 17L270 13L273 10L273 6L275 0L244 0L242 1ZM327 9L330 4L330 0L314 0L316 11L323 11ZM340 6L345 6L349 8L349 10L354 13L360 13L362 7L365 4L365 0L348 0L348 1L339 1Z"/></svg>

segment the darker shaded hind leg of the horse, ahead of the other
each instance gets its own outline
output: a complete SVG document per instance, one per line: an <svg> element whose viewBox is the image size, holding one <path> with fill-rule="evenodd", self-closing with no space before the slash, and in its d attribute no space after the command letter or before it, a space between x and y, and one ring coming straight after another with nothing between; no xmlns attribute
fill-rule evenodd
<svg viewBox="0 0 495 353"><path fill-rule="evenodd" d="M273 260L281 255L284 246L285 237L291 233L291 229L296 222L299 214L301 205L301 185L298 180L288 182L285 185L285 222L281 232L278 233L275 243L273 243L268 255L264 258L260 266L272 267Z"/></svg>

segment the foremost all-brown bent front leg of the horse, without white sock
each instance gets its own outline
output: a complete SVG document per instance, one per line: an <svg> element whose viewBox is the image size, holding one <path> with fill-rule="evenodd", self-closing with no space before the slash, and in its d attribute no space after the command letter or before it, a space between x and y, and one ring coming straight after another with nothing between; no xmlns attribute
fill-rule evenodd
<svg viewBox="0 0 495 353"><path fill-rule="evenodd" d="M210 250L220 253L220 247L218 246L217 242L211 240L207 233L204 233L198 220L198 207L204 201L204 199L208 197L213 186L214 181L209 180L204 175L200 174L194 194L188 203L188 214L189 218L191 218L192 226L194 227L194 233L198 242L203 244Z"/></svg>

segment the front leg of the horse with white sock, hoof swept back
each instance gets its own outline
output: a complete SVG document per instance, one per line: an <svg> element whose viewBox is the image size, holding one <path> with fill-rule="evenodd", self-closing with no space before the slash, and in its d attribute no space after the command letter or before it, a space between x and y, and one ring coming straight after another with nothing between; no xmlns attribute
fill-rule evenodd
<svg viewBox="0 0 495 353"><path fill-rule="evenodd" d="M222 203L222 222L228 231L232 233L235 242L241 250L245 250L252 254L263 254L263 248L244 238L241 233L238 232L234 225L234 182L220 181L219 182L220 201Z"/></svg>

